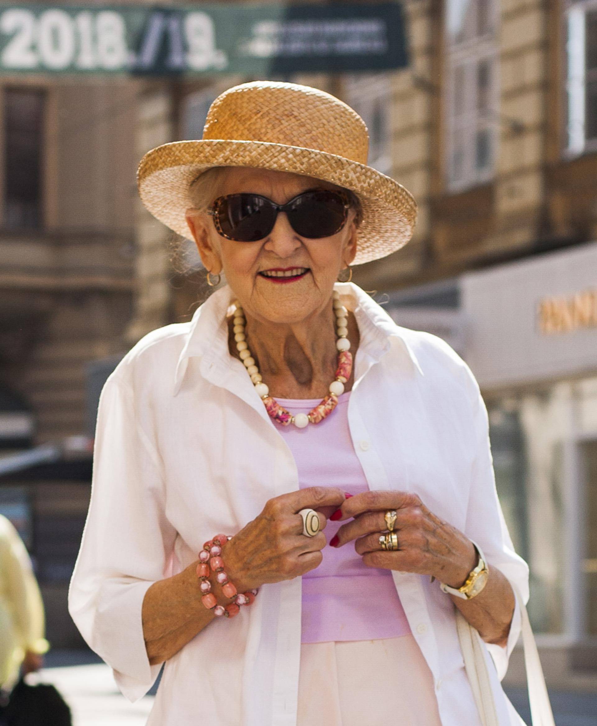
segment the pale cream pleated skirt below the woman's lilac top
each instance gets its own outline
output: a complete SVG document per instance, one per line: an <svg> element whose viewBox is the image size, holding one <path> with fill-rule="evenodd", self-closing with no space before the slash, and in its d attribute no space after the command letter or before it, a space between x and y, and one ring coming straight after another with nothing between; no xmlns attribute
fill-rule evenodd
<svg viewBox="0 0 597 726"><path fill-rule="evenodd" d="M442 726L413 635L303 643L297 726Z"/></svg>

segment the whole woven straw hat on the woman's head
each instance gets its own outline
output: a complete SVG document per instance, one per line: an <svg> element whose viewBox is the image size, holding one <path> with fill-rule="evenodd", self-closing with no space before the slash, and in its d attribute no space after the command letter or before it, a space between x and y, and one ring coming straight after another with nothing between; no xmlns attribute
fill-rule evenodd
<svg viewBox="0 0 597 726"><path fill-rule="evenodd" d="M184 213L191 181L213 166L252 166L325 179L352 189L363 219L353 264L385 257L413 234L410 192L367 166L364 121L336 97L298 83L253 81L233 86L209 107L203 138L161 144L137 170L139 195L157 219L192 238Z"/></svg>

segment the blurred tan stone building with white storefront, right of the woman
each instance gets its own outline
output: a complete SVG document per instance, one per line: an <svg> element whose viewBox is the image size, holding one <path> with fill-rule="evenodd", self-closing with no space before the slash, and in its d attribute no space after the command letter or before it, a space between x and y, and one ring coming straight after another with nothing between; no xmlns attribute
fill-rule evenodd
<svg viewBox="0 0 597 726"><path fill-rule="evenodd" d="M595 688L597 4L406 7L386 143L420 221L355 279L471 365L548 680Z"/></svg>

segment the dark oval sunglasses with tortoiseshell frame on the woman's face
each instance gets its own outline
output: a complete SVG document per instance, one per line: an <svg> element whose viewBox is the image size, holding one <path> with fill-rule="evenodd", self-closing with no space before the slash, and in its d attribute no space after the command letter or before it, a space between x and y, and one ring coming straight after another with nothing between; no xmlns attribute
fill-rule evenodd
<svg viewBox="0 0 597 726"><path fill-rule="evenodd" d="M208 208L222 237L237 242L256 242L272 232L278 212L285 212L296 234L317 240L340 232L350 208L345 192L312 189L276 204L259 194L229 194L218 197Z"/></svg>

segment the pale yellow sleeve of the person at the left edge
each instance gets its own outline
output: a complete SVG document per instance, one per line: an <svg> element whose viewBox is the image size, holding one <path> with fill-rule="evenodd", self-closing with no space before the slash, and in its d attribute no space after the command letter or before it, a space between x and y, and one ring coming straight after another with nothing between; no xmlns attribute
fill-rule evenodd
<svg viewBox="0 0 597 726"><path fill-rule="evenodd" d="M2 568L6 587L7 606L12 613L12 622L18 647L34 653L46 653L49 643L44 638L44 603L27 548L15 527L4 521Z"/></svg>

